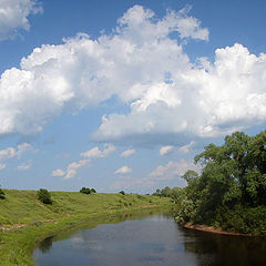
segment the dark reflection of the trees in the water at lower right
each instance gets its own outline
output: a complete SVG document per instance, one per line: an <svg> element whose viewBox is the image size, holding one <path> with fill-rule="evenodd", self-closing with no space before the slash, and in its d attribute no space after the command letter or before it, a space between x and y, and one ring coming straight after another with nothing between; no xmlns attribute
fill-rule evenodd
<svg viewBox="0 0 266 266"><path fill-rule="evenodd" d="M201 266L265 266L266 241L259 237L216 235L185 231L184 247Z"/></svg>

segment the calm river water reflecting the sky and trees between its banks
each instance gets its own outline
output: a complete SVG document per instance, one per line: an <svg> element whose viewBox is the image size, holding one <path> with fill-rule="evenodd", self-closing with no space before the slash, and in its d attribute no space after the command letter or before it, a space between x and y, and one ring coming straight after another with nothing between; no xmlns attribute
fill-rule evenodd
<svg viewBox="0 0 266 266"><path fill-rule="evenodd" d="M265 266L266 239L184 229L152 215L47 238L33 257L41 266Z"/></svg>

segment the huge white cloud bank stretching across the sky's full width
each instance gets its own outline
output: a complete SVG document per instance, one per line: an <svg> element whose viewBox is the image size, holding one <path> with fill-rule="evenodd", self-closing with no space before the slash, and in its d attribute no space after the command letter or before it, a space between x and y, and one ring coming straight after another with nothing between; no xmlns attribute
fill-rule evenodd
<svg viewBox="0 0 266 266"><path fill-rule="evenodd" d="M20 69L1 75L0 135L38 134L60 113L96 108L113 95L129 112L103 115L95 141L168 145L171 135L176 145L265 122L266 54L236 43L216 49L214 62L192 63L183 47L207 41L208 30L188 12L157 19L134 6L111 34L93 40L81 33L35 48ZM102 156L99 147L85 154Z"/></svg>

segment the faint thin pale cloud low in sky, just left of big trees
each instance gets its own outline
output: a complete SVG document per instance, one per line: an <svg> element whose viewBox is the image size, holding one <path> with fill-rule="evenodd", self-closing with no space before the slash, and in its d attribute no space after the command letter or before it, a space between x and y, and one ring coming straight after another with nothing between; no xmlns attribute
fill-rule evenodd
<svg viewBox="0 0 266 266"><path fill-rule="evenodd" d="M158 165L149 174L146 180L168 181L182 176L187 170L200 172L200 167L192 162L181 160L180 162L170 161L166 165Z"/></svg>

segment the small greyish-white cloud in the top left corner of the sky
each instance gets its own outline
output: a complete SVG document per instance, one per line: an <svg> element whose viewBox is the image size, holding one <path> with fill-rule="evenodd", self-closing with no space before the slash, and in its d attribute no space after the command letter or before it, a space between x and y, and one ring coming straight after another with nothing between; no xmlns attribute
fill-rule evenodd
<svg viewBox="0 0 266 266"><path fill-rule="evenodd" d="M1 0L0 40L14 38L20 29L29 31L28 17L40 12L41 3L35 0Z"/></svg>

